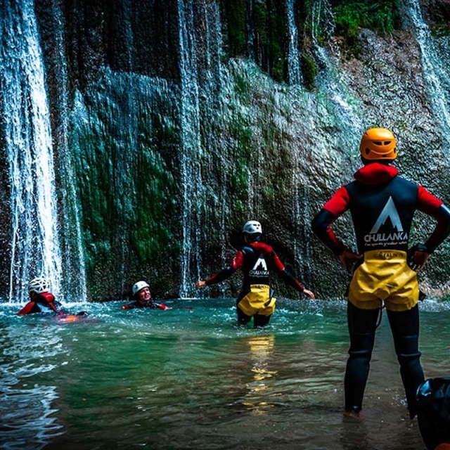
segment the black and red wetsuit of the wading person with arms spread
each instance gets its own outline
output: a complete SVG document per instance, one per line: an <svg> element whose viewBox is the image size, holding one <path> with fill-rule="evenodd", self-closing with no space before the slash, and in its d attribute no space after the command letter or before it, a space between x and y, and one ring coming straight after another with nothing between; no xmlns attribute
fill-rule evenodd
<svg viewBox="0 0 450 450"><path fill-rule="evenodd" d="M220 283L233 275L238 269L243 269L243 285L237 299L238 321L240 323L248 323L252 317L254 318L255 326L264 326L269 323L270 316L274 310L275 299L271 302L272 291L269 288L268 297L266 298L266 307L259 312L249 313L250 310L245 309L241 302L252 290L252 286L264 285L270 286L269 278L272 272L276 272L285 283L292 286L298 292L302 293L304 287L300 281L295 279L288 271L286 271L284 264L279 259L274 249L262 242L253 242L245 245L236 253L233 261L229 266L208 278L205 283L211 285ZM243 311L245 309L245 311Z"/></svg>

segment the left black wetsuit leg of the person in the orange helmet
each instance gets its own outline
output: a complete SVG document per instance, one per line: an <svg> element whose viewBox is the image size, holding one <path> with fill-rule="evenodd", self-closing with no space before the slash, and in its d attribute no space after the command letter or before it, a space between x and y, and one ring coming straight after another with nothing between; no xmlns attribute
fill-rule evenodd
<svg viewBox="0 0 450 450"><path fill-rule="evenodd" d="M379 314L378 308L359 309L347 303L350 348L344 380L345 411L361 411Z"/></svg>

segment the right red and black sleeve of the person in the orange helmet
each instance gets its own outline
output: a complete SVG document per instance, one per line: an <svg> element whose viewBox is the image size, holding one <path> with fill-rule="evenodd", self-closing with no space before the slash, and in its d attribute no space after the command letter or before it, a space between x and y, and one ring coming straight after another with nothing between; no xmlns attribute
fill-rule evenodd
<svg viewBox="0 0 450 450"><path fill-rule="evenodd" d="M437 220L436 227L425 242L428 253L432 253L450 233L450 210L442 200L430 194L423 186L418 188L418 208Z"/></svg>

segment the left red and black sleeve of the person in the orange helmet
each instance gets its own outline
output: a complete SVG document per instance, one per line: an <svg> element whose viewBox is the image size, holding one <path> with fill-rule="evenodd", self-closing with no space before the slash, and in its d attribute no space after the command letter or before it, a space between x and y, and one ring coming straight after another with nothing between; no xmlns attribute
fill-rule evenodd
<svg viewBox="0 0 450 450"><path fill-rule="evenodd" d="M314 217L311 228L314 234L335 255L345 250L345 245L336 237L331 229L336 219L349 208L349 193L345 187L340 188L328 202L323 205L319 214Z"/></svg>

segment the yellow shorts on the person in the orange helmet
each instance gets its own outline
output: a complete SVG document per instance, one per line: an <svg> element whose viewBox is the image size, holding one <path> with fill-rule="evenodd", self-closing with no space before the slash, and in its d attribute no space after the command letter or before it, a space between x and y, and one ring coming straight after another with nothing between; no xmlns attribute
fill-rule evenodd
<svg viewBox="0 0 450 450"><path fill-rule="evenodd" d="M371 250L354 271L349 301L361 309L376 309L383 302L391 311L407 311L419 299L417 274L406 262L406 252Z"/></svg>

